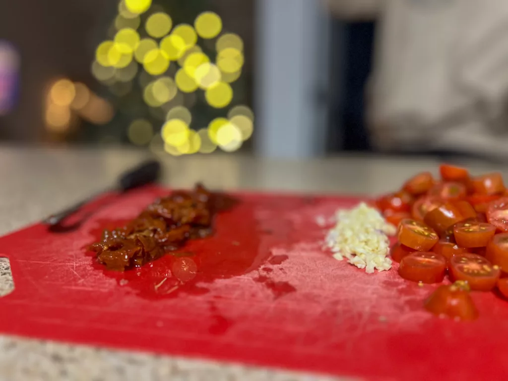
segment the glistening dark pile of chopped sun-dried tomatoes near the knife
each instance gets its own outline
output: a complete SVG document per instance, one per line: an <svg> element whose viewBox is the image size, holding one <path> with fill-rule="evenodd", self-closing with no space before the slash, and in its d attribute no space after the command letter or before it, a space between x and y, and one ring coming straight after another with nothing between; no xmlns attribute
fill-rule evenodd
<svg viewBox="0 0 508 381"><path fill-rule="evenodd" d="M149 205L124 227L105 230L102 240L89 249L110 270L138 267L176 250L189 238L210 235L214 214L231 204L232 199L201 184L193 191L178 190Z"/></svg>

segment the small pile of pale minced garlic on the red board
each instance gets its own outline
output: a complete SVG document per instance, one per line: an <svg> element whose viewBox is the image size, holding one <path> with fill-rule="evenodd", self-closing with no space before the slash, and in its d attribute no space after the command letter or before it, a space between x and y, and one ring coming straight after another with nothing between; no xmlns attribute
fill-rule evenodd
<svg viewBox="0 0 508 381"><path fill-rule="evenodd" d="M347 262L367 273L373 273L374 269L390 270L388 235L395 234L393 225L365 203L351 210L339 209L336 218L337 225L326 237L326 244L334 252L335 259L342 261L346 258Z"/></svg>

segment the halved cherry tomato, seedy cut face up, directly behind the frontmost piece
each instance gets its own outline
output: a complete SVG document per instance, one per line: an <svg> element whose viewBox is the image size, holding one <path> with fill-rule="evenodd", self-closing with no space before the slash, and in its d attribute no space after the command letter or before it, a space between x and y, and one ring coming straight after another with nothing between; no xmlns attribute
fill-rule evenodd
<svg viewBox="0 0 508 381"><path fill-rule="evenodd" d="M491 291L501 275L499 266L476 254L457 254L450 260L450 274L454 280L464 280L471 290Z"/></svg>

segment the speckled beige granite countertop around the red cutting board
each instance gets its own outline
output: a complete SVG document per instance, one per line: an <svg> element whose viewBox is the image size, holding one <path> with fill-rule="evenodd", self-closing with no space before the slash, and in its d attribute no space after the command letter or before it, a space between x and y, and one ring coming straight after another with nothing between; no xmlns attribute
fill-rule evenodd
<svg viewBox="0 0 508 381"><path fill-rule="evenodd" d="M0 234L19 229L92 192L111 186L147 153L111 148L0 147ZM437 168L421 158L344 156L306 162L250 156L161 155L165 184L287 192L376 194L397 187L420 170ZM473 171L485 170L472 165ZM489 168L493 170L492 166ZM8 263L0 262L0 296L12 289ZM107 350L0 335L0 380L328 380L319 375L170 356ZM340 378L344 379L344 378Z"/></svg>

